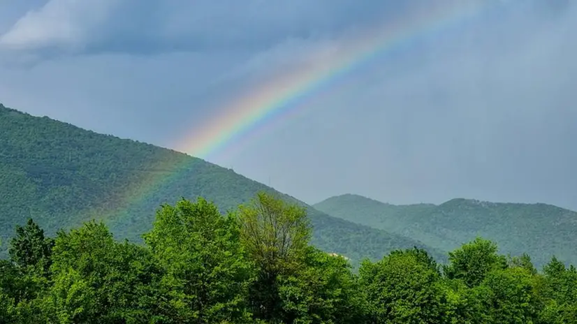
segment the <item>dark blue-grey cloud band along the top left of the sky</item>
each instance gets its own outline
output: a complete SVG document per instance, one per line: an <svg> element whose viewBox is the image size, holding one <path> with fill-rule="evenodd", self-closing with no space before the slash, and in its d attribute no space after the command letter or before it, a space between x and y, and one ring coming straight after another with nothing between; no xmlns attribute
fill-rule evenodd
<svg viewBox="0 0 577 324"><path fill-rule="evenodd" d="M10 50L58 53L262 49L384 17L397 1L50 0L0 37Z"/></svg>

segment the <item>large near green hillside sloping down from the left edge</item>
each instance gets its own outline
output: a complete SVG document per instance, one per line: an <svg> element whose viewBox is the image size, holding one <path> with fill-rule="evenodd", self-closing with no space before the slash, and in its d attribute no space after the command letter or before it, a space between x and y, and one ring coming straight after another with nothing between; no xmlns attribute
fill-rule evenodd
<svg viewBox="0 0 577 324"><path fill-rule="evenodd" d="M86 131L0 105L0 238L31 217L49 235L103 219L119 239L139 241L163 202L203 196L222 210L273 189L187 154ZM284 195L284 198L296 201ZM419 246L402 235L308 209L312 243L354 261ZM5 249L3 246L2 249ZM444 254L428 249L438 259Z"/></svg>

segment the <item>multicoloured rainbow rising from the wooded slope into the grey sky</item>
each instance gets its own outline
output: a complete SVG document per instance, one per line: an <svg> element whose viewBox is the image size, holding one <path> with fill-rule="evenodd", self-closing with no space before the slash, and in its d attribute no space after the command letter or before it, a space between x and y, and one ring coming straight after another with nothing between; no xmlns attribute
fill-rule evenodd
<svg viewBox="0 0 577 324"><path fill-rule="evenodd" d="M258 131L286 120L302 103L321 89L330 88L340 78L374 58L402 49L418 38L461 27L475 17L482 17L492 7L486 0L441 0L429 3L426 8L416 10L402 20L387 22L347 38L344 45L333 52L314 52L308 57L306 68L280 75L268 80L260 87L248 91L226 105L221 115L204 123L185 135L176 149L201 159L210 159L227 147L239 147L239 142L254 137ZM252 136L251 136L252 135ZM235 145L231 145L235 143ZM190 160L190 159L184 159ZM189 161L182 163L191 163ZM180 174L187 165L161 162L159 168L172 169L168 177L149 176L143 182L133 184L125 192L124 211L154 195L156 189L167 184ZM118 212L118 211L117 211ZM116 214L116 213L115 213Z"/></svg>

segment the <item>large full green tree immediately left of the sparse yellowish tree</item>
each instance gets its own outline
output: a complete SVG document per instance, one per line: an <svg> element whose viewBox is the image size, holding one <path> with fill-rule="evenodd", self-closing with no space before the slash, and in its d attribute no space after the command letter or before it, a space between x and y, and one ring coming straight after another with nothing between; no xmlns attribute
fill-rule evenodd
<svg viewBox="0 0 577 324"><path fill-rule="evenodd" d="M145 242L166 274L161 313L176 323L249 322L251 264L238 223L203 198L163 205Z"/></svg>

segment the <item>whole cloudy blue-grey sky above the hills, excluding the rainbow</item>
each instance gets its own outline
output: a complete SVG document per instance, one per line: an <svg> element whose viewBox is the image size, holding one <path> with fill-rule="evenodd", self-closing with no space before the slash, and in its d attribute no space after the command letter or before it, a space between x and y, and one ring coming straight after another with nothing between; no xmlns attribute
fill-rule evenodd
<svg viewBox="0 0 577 324"><path fill-rule="evenodd" d="M308 203L577 210L577 3L460 1L484 9L377 53L206 159ZM3 0L0 103L182 149L243 96L451 3Z"/></svg>

